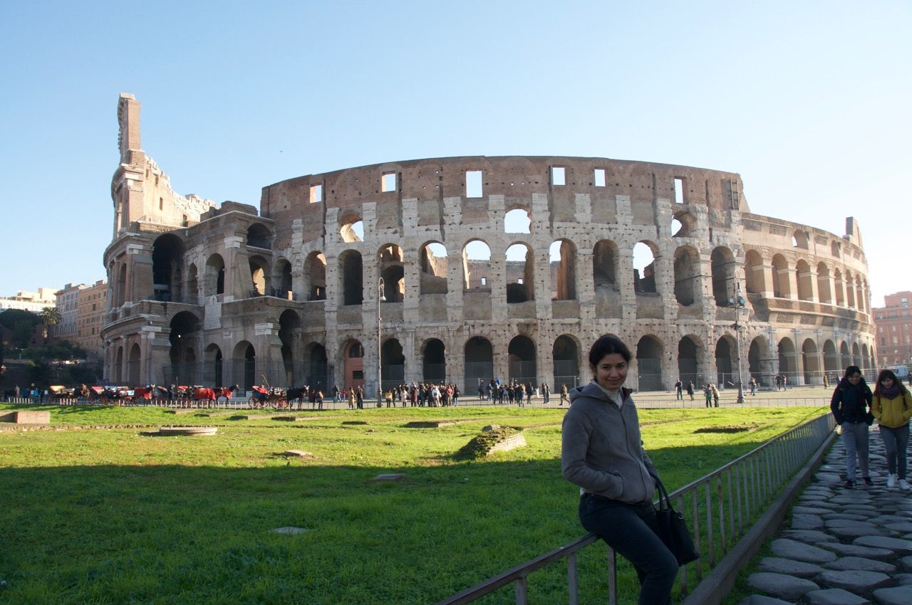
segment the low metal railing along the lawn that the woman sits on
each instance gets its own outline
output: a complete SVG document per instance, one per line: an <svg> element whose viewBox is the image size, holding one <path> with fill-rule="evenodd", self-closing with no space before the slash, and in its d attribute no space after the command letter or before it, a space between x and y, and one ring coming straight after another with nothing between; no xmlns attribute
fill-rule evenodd
<svg viewBox="0 0 912 605"><path fill-rule="evenodd" d="M679 570L678 585L682 597L689 593L691 580L699 582L716 567L782 487L833 435L833 415L820 415L670 494L675 507L687 519L694 545L701 554L700 559ZM514 585L515 602L525 605L529 574L561 560L565 560L567 566L567 602L576 605L580 602L577 553L597 540L593 534L576 539L440 600L437 605L470 603L511 583ZM617 559L611 548L607 548L606 566L608 603L617 605Z"/></svg>

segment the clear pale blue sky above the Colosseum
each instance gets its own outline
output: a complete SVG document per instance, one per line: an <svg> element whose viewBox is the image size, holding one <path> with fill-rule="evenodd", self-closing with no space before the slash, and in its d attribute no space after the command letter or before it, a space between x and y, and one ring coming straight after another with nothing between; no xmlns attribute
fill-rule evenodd
<svg viewBox="0 0 912 605"><path fill-rule="evenodd" d="M570 155L741 173L912 290L912 3L0 3L0 295L105 277L120 92L175 190Z"/></svg>

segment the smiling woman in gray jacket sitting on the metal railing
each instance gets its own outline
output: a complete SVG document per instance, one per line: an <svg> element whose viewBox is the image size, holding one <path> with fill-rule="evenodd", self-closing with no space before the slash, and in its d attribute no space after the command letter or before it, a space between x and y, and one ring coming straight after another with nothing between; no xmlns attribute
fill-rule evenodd
<svg viewBox="0 0 912 605"><path fill-rule="evenodd" d="M652 496L657 475L643 451L637 407L627 378L630 350L602 336L589 351L593 382L570 392L561 468L580 487L583 527L628 559L640 581L640 605L671 602L678 561L657 535Z"/></svg>

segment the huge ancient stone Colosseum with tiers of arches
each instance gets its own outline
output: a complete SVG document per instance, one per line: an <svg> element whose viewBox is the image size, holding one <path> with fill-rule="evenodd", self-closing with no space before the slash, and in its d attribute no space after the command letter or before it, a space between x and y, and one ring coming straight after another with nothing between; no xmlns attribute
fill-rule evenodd
<svg viewBox="0 0 912 605"><path fill-rule="evenodd" d="M119 98L106 378L141 385L589 379L819 384L874 367L861 233L754 214L720 170L567 157L414 159L183 197Z"/></svg>

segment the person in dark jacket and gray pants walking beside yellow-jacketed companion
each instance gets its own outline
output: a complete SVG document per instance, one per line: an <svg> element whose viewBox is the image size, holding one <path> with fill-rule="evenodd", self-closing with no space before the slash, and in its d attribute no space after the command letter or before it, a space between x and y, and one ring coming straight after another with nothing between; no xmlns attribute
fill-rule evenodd
<svg viewBox="0 0 912 605"><path fill-rule="evenodd" d="M857 365L845 368L845 376L833 392L830 409L836 424L842 428L845 446L845 487L855 487L855 470L861 467L865 485L874 485L868 472L868 408L873 394ZM871 416L873 422L874 417Z"/></svg>

